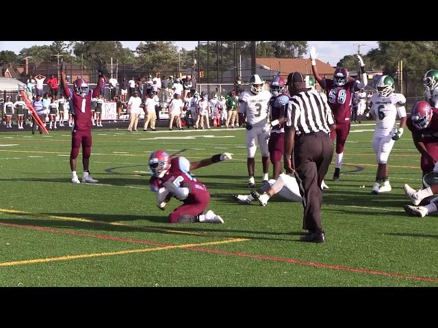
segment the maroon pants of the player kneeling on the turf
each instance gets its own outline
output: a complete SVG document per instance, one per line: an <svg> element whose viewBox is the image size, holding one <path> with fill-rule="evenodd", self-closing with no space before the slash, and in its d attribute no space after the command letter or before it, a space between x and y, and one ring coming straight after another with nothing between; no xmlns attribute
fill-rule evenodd
<svg viewBox="0 0 438 328"><path fill-rule="evenodd" d="M198 186L198 187L196 187ZM184 204L175 208L169 215L170 223L177 223L182 215L196 217L204 213L210 202L210 193L203 184L190 184L184 187L189 188L189 196L184 200Z"/></svg>

